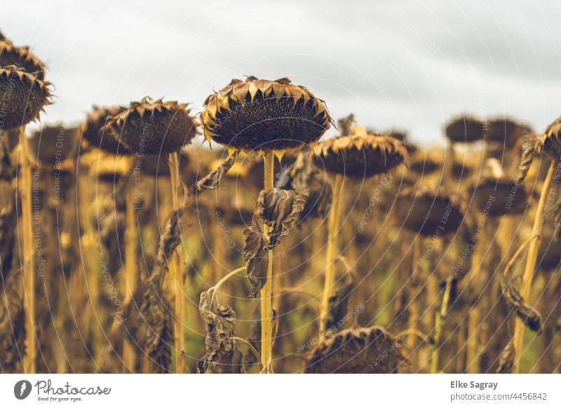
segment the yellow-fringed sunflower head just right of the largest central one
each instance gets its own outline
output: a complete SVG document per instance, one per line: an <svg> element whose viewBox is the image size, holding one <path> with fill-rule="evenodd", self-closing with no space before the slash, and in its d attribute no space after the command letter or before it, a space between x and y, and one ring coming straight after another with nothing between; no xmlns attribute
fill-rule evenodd
<svg viewBox="0 0 561 408"><path fill-rule="evenodd" d="M361 179L405 163L405 144L391 136L351 135L318 143L314 163L326 172Z"/></svg>

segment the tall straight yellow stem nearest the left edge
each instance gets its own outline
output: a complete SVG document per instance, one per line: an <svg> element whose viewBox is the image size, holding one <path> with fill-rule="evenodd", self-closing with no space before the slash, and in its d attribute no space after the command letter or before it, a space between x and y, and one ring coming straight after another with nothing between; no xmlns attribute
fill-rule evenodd
<svg viewBox="0 0 561 408"><path fill-rule="evenodd" d="M29 145L25 137L25 126L20 128L20 168L21 185L20 198L22 201L22 238L23 238L23 283L25 287L25 345L27 353L24 356L24 369L27 374L34 374L37 369L37 339L35 336L35 263L33 247L32 224L32 162L29 158Z"/></svg>

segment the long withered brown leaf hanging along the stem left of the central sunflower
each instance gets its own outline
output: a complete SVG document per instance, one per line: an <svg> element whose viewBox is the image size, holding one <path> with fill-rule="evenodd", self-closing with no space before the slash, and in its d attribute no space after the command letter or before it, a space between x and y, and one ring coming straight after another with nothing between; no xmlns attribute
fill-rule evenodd
<svg viewBox="0 0 561 408"><path fill-rule="evenodd" d="M151 359L152 372L169 372L171 344L173 344L173 318L171 306L163 296L163 278L168 271L168 260L181 242L180 219L182 209L172 210L160 237L160 246L154 269L146 280L141 315L148 326L147 353ZM139 322L141 325L143 322ZM180 353L181 351L177 351Z"/></svg>

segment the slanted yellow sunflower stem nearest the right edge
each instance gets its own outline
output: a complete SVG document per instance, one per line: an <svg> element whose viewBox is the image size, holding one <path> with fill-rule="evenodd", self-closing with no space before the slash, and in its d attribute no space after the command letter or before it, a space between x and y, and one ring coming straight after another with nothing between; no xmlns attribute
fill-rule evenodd
<svg viewBox="0 0 561 408"><path fill-rule="evenodd" d="M520 294L522 299L528 301L532 289L532 277L536 269L536 261L538 259L539 246L541 244L541 227L543 226L543 212L546 209L546 203L550 194L553 176L555 175L556 161L551 161L549 166L548 175L546 176L541 194L539 196L538 208L536 208L536 215L534 217L534 227L532 228L532 237L529 243L528 257L526 259L526 268L522 276L522 283L520 283ZM521 319L517 318L514 325L514 367L513 373L520 371L520 356L522 355L522 344L524 343L524 323Z"/></svg>

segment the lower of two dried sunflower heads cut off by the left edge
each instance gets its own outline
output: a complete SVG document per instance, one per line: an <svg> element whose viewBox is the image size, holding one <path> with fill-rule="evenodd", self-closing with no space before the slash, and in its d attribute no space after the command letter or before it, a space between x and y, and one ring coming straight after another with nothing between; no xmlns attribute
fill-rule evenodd
<svg viewBox="0 0 561 408"><path fill-rule="evenodd" d="M43 107L51 103L49 86L25 69L0 67L0 100L5 112L1 130L19 128L39 118Z"/></svg>

